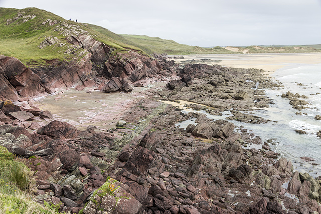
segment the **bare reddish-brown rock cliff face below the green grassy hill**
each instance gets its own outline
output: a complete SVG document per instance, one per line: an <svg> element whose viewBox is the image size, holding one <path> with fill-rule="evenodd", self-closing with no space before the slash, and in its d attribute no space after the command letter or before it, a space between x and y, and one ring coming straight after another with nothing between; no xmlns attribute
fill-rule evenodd
<svg viewBox="0 0 321 214"><path fill-rule="evenodd" d="M66 40L75 49L83 50L81 57L75 57L72 61L52 60L47 62L47 66L29 69L14 57L1 56L0 99L16 101L19 96L34 97L44 92L52 94L61 88L77 85L97 86L103 90L115 78L126 87L104 91L128 91L125 88L130 88L128 85L131 83L172 73L163 71L163 66L156 59L131 50L111 55L114 49L89 35L70 33Z"/></svg>

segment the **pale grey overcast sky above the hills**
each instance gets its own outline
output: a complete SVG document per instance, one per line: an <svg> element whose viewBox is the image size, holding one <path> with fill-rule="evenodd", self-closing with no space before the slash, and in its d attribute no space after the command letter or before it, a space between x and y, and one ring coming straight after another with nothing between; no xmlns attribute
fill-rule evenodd
<svg viewBox="0 0 321 214"><path fill-rule="evenodd" d="M321 0L0 0L192 46L321 44Z"/></svg>

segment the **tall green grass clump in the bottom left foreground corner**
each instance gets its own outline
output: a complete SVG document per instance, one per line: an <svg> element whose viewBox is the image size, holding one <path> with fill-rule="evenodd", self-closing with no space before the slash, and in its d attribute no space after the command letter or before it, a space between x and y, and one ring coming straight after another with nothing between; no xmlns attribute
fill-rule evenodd
<svg viewBox="0 0 321 214"><path fill-rule="evenodd" d="M0 146L0 210L5 213L59 213L32 200L31 172L7 148Z"/></svg>

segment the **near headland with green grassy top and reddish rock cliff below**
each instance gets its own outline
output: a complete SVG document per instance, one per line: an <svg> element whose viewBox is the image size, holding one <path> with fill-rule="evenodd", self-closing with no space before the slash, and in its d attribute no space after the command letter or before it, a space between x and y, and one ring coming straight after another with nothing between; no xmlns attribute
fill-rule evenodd
<svg viewBox="0 0 321 214"><path fill-rule="evenodd" d="M28 52L28 57L21 55L19 50L10 51L30 68L17 58L0 57L0 99L16 101L19 97L34 97L45 92L53 94L61 88L78 85L105 92L131 91L130 85L136 81L173 73L164 71L163 64L135 51L138 50L135 47L119 43L87 24L74 23L33 8L18 13L5 10L4 13L13 16L5 20L4 30L15 35L16 31L25 29L26 33L20 36L32 42L26 43L26 50L21 51L33 51ZM47 21L43 22L43 19ZM37 31L39 35L36 36L29 33ZM11 36L11 40L18 41L18 37ZM6 39L0 36L4 43ZM14 44L12 48L15 48ZM34 67L35 64L41 66Z"/></svg>

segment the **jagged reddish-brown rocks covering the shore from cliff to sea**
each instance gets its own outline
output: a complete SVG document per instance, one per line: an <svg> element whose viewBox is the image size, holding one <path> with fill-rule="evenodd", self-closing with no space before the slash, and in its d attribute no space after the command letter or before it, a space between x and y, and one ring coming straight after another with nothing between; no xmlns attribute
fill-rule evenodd
<svg viewBox="0 0 321 214"><path fill-rule="evenodd" d="M80 78L80 87L129 92L148 78L165 81L167 86L145 90L144 97L122 112L125 122L105 132L99 132L95 124L79 131L53 120L32 97L63 85L48 79L49 70L32 71L13 59L0 60L6 82L0 145L35 171L35 200L72 213L321 212L321 178L293 171L291 162L272 151L268 142L233 124L233 120L258 125L277 122L241 111L268 107L272 100L264 96L264 89L281 85L258 69L179 66L160 56L127 55L122 54L127 61L109 57L103 68L96 69L97 76L86 76L86 81ZM22 69L10 70L16 63ZM21 72L15 74L17 71ZM37 74L34 77L41 88L23 82L30 74ZM50 81L43 82L45 79ZM72 78L66 84L65 75L58 79L64 87L75 85ZM231 121L213 121L199 113L184 114L159 100L203 104L205 107L190 107L213 115L233 109L233 116ZM38 116L43 124L32 122ZM186 130L176 127L191 118L197 125ZM259 149L245 147L249 143Z"/></svg>

